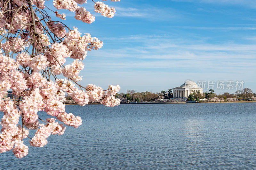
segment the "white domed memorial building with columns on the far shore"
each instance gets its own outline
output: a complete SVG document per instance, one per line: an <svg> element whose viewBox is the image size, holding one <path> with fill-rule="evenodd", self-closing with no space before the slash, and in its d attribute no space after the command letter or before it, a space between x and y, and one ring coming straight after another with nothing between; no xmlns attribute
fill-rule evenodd
<svg viewBox="0 0 256 170"><path fill-rule="evenodd" d="M203 94L203 88L200 88L194 81L187 80L181 86L173 88L173 98L188 97L194 92Z"/></svg>

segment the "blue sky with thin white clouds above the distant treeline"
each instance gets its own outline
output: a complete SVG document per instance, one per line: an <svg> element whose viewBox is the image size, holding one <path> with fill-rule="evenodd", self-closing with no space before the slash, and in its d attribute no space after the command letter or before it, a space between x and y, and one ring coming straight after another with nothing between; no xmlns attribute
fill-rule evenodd
<svg viewBox="0 0 256 170"><path fill-rule="evenodd" d="M121 0L114 18L92 24L67 13L69 27L103 40L89 52L81 84L158 92L192 81L244 81L256 92L255 0ZM204 90L205 91L205 90ZM235 90L215 90L217 94Z"/></svg>

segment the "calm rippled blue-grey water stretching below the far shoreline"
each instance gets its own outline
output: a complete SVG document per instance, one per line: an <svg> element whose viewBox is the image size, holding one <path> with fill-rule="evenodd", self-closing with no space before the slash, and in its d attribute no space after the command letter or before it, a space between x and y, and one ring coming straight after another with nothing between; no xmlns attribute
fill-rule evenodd
<svg viewBox="0 0 256 170"><path fill-rule="evenodd" d="M0 169L256 169L255 107L69 105L67 112L83 119L79 128L50 136L43 148L29 146L22 159L0 154Z"/></svg>

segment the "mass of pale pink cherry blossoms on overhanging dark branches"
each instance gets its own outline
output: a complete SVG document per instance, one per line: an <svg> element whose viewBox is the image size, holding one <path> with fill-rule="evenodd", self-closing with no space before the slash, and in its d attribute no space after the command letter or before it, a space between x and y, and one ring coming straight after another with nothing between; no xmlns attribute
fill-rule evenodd
<svg viewBox="0 0 256 170"><path fill-rule="evenodd" d="M95 17L77 5L86 3L87 0L53 0L57 9L54 12L45 0L0 2L0 97L12 89L12 100L0 100L0 111L4 113L0 122L0 153L12 150L17 158L22 158L28 154L24 138L31 138L31 146L43 147L50 135L64 133L64 124L78 128L82 119L66 113L66 94L81 106L90 100L109 107L120 104L114 97L119 85L103 90L93 84L78 84L87 53L100 49L103 42L89 33L82 35L75 26L69 29L47 14L53 11L65 20L66 14L59 14L58 10L69 10L78 22L91 24ZM94 9L108 18L116 12L102 2L94 4ZM41 119L38 111L51 118ZM35 135L31 136L29 130L36 130Z"/></svg>

